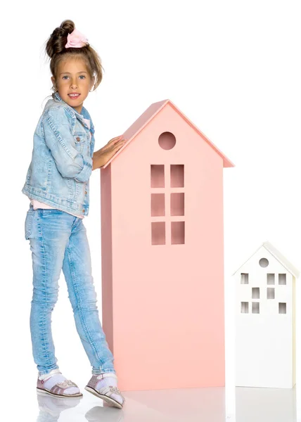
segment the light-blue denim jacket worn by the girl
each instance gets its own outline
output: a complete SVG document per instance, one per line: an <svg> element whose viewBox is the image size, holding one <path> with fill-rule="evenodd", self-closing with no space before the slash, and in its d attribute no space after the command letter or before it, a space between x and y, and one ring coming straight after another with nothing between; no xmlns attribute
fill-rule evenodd
<svg viewBox="0 0 301 422"><path fill-rule="evenodd" d="M90 129L83 118L90 120ZM58 210L88 215L94 132L84 106L79 114L54 93L34 131L32 160L22 192Z"/></svg>

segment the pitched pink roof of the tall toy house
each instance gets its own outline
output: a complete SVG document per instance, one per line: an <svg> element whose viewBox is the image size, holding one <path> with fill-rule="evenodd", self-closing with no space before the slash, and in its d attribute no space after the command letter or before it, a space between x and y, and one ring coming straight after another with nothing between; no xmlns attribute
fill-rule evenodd
<svg viewBox="0 0 301 422"><path fill-rule="evenodd" d="M122 151L124 150L124 148L127 148L127 146L129 145L129 143L134 139L134 137L139 134L141 132L141 130L146 127L146 124L148 124L149 122L151 122L151 120L153 120L153 117L155 117L155 115L157 115L158 113L160 113L160 111L162 110L162 108L164 108L165 106L167 106L167 104L169 104L170 106L172 106L172 108L174 108L175 111L177 111L177 113L179 113L179 115L181 117L183 117L183 119L193 128L196 130L196 132L202 136L202 138L204 139L204 141L206 141L207 143L209 143L209 145L214 149L214 151L216 151L224 160L224 167L234 167L233 162L231 162L228 158L226 158L226 155L224 155L222 153L222 151L219 151L219 148L217 148L217 146L214 145L214 143L212 143L212 141L210 141L207 136L205 136L203 134L203 132L200 131L200 129L198 129L198 127L196 127L195 124L193 124L193 122L191 122L191 120L188 119L188 117L186 117L186 115L184 115L184 113L181 112L181 110L179 110L179 108L177 108L174 103L172 103L172 101L170 100L163 100L163 101L158 101L158 103L153 103L151 104L151 106L149 106L144 113L141 114L140 117L138 117L138 119L124 132L123 136L124 139L127 140L126 143L124 143L124 146L122 148L120 148L119 151L117 151L117 153L115 153L115 155L113 155L113 157L101 168L105 168L107 167L110 162L112 162L113 160L115 160L115 158L117 157L117 155L119 155L120 153L122 153Z"/></svg>

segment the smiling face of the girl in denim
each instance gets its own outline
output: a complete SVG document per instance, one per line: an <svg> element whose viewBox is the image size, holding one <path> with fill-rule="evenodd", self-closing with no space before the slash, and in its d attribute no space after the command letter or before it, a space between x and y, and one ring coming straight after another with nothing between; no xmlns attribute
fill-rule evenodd
<svg viewBox="0 0 301 422"><path fill-rule="evenodd" d="M82 58L67 58L58 65L57 80L51 77L60 98L69 106L75 108L78 113L82 112L82 105L93 87L94 78L91 78L87 66ZM78 94L78 95L71 95Z"/></svg>

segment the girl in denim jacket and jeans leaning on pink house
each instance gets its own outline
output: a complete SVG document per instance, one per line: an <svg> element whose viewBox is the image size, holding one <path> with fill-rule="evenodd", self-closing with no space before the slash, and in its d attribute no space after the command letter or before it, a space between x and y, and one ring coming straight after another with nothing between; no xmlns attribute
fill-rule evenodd
<svg viewBox="0 0 301 422"><path fill-rule="evenodd" d="M122 408L113 354L98 317L83 218L89 213L92 170L105 165L125 141L118 136L94 153L94 125L83 103L92 87L95 90L101 83L101 59L72 20L53 31L46 53L54 92L34 132L32 161L22 190L30 198L25 238L32 250L30 333L39 371L37 390L82 397L77 385L59 370L51 334L51 312L63 269L77 332L92 366L85 389Z"/></svg>

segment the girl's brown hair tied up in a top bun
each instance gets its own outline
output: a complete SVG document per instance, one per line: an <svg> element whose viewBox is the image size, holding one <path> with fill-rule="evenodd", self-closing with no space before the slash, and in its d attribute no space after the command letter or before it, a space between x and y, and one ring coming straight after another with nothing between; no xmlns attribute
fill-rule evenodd
<svg viewBox="0 0 301 422"><path fill-rule="evenodd" d="M101 58L90 44L80 48L70 47L65 48L67 44L67 37L73 30L75 24L72 20L64 20L59 27L52 32L49 39L46 41L46 53L51 58L50 70L55 81L57 80L58 63L69 57L82 58L87 65L87 69L91 78L95 77L94 89L98 87L103 79L103 66L101 65ZM54 84L55 86L55 84ZM52 94L53 96L53 94Z"/></svg>

